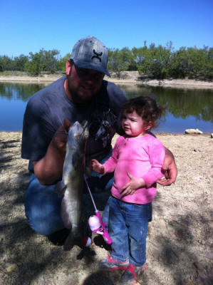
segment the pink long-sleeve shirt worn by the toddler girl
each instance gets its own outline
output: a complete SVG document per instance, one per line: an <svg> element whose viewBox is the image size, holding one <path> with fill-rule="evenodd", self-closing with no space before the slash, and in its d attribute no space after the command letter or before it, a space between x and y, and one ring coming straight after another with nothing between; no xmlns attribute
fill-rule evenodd
<svg viewBox="0 0 213 285"><path fill-rule="evenodd" d="M152 202L156 195L156 181L163 176L165 147L152 135L125 138L120 136L113 148L113 155L103 165L104 174L114 171L112 195L117 199L135 204ZM145 180L146 187L135 190L133 195L122 197L122 187L130 181L127 172Z"/></svg>

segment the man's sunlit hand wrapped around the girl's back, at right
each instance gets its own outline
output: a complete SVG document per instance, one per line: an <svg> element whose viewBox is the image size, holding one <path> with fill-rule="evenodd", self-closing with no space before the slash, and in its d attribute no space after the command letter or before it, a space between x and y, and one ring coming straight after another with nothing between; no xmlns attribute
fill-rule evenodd
<svg viewBox="0 0 213 285"><path fill-rule="evenodd" d="M162 170L165 172L165 178L162 180L157 180L162 186L170 186L175 183L177 177L177 166L175 164L175 157L172 152L165 147L165 160L162 165Z"/></svg>

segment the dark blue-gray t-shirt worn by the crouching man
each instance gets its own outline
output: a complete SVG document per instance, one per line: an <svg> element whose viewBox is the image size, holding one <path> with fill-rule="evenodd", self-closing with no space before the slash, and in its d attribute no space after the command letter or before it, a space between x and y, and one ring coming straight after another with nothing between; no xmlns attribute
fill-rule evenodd
<svg viewBox="0 0 213 285"><path fill-rule="evenodd" d="M65 118L71 124L88 120L90 137L86 149L86 162L91 158L102 160L111 148L111 140L118 130L120 107L126 98L114 83L103 81L99 93L85 105L69 100L63 88L66 76L39 90L29 100L24 114L21 157L32 161L46 155L54 133Z"/></svg>

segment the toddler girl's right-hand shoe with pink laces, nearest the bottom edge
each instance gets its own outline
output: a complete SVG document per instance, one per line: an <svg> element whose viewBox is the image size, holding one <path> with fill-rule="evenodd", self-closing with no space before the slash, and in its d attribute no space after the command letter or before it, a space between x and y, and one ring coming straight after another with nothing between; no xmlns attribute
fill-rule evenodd
<svg viewBox="0 0 213 285"><path fill-rule="evenodd" d="M135 266L133 264L130 264L127 269L125 270L123 276L121 277L121 280L123 284L125 285L132 285L132 284L142 284L140 281L137 280L137 278L142 275L142 273L147 269L147 264L144 266Z"/></svg>

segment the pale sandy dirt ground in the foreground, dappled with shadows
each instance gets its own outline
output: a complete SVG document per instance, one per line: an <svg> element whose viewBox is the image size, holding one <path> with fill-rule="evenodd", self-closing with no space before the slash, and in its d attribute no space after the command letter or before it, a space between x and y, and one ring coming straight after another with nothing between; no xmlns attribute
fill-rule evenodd
<svg viewBox="0 0 213 285"><path fill-rule="evenodd" d="M177 181L157 187L147 235L144 285L210 285L212 275L213 138L157 134L175 155ZM114 143L114 142L113 142ZM98 271L107 255L93 244L63 252L26 224L27 161L21 133L0 133L0 284L113 285L120 273Z"/></svg>

